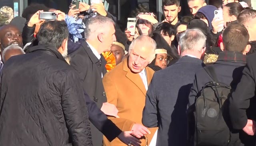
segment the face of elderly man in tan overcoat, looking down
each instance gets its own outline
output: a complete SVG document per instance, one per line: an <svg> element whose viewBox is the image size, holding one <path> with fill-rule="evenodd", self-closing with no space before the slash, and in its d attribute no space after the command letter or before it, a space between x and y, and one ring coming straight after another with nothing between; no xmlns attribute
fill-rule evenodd
<svg viewBox="0 0 256 146"><path fill-rule="evenodd" d="M154 59L154 51L150 45L134 45L130 51L128 66L134 73L141 72Z"/></svg>

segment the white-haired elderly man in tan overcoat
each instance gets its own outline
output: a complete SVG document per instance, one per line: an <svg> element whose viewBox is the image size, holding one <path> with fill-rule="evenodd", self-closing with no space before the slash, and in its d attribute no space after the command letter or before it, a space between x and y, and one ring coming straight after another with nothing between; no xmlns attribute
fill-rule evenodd
<svg viewBox="0 0 256 146"><path fill-rule="evenodd" d="M142 125L146 91L154 74L146 66L154 59L155 49L156 42L150 37L142 35L136 38L129 47L129 56L103 78L107 101L116 105L120 117L108 118L121 130L132 131L131 134L142 142L141 146L148 146L156 131L156 128ZM103 141L104 146L126 146L117 138L109 142L104 137ZM131 145L136 144L130 142Z"/></svg>

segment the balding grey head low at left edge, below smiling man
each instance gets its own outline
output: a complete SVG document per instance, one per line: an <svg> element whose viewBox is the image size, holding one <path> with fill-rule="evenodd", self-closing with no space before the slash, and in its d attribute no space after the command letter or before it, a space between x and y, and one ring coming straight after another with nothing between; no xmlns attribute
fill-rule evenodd
<svg viewBox="0 0 256 146"><path fill-rule="evenodd" d="M6 62L9 58L16 55L25 54L23 49L17 45L10 45L4 49L2 52L2 61Z"/></svg>

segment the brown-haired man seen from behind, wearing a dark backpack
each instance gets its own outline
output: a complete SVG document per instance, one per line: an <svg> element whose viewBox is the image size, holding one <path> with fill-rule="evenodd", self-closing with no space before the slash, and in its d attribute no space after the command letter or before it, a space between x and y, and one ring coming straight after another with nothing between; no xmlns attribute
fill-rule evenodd
<svg viewBox="0 0 256 146"><path fill-rule="evenodd" d="M246 53L250 50L248 40L249 34L244 26L233 23L226 27L223 32L223 43L220 44L220 48L224 51L219 53L218 60L212 65L218 81L230 85L232 89L236 89L238 82L240 82L242 70L246 64ZM194 104L198 93L204 88L205 84L211 81L212 79L203 68L196 72L189 95L188 106ZM188 109L188 113L190 113L190 108ZM229 119L225 115L224 117L224 119ZM228 121L229 120L226 120L226 123L228 123L230 127L231 125L229 125L230 122ZM232 146L239 145L240 140L238 132L232 129L230 129L230 131L232 132L230 144ZM194 134L194 131L192 134Z"/></svg>

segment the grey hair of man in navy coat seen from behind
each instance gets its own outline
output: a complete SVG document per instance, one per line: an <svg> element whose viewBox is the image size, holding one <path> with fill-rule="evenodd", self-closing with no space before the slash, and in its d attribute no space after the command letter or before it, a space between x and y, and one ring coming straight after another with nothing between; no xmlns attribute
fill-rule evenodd
<svg viewBox="0 0 256 146"><path fill-rule="evenodd" d="M201 51L206 46L206 36L200 29L188 29L180 36L180 52Z"/></svg>

